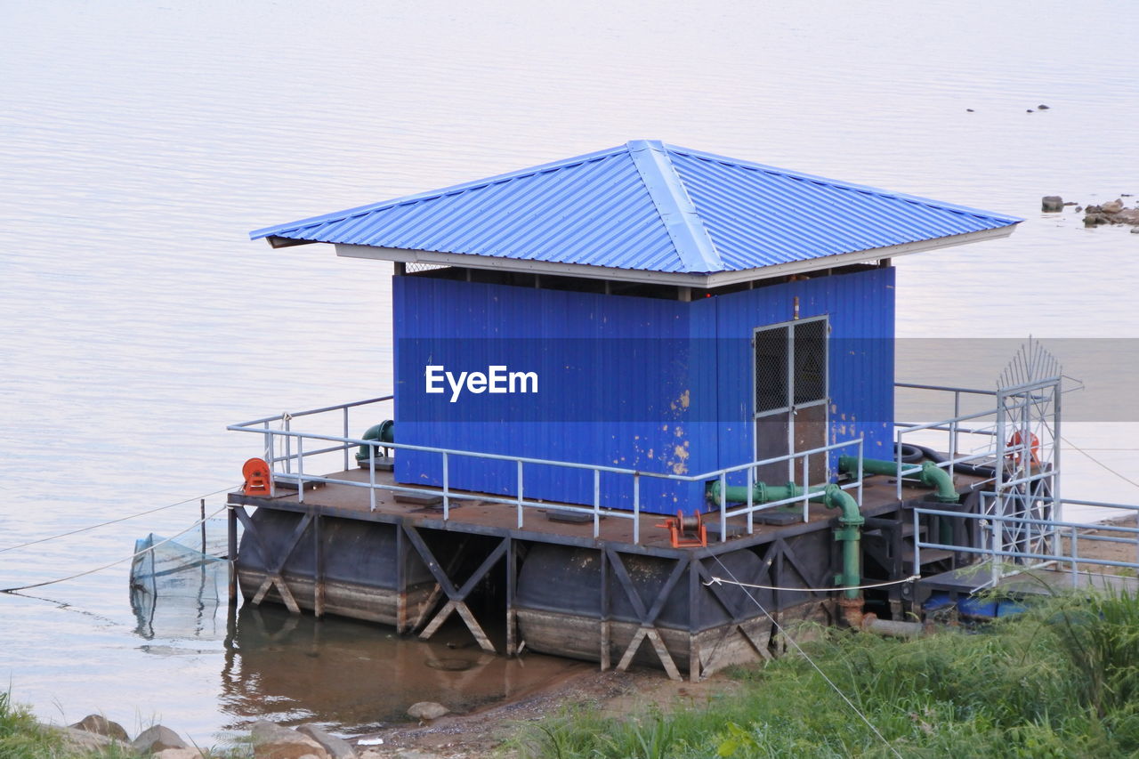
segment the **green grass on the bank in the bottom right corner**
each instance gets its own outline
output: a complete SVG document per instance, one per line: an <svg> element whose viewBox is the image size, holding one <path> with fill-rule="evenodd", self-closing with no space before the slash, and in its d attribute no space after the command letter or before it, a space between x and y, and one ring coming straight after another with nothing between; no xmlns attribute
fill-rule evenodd
<svg viewBox="0 0 1139 759"><path fill-rule="evenodd" d="M805 645L879 738L801 656L739 668L707 708L622 719L585 708L508 748L524 758L1139 756L1139 598L1057 597L980 632L833 631Z"/></svg>

